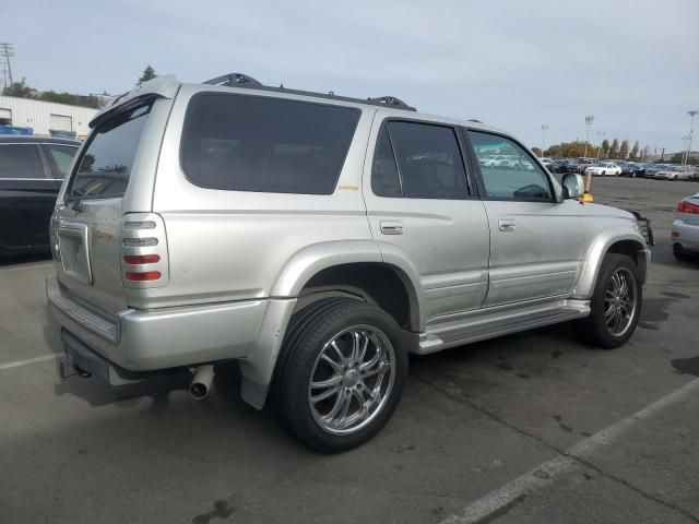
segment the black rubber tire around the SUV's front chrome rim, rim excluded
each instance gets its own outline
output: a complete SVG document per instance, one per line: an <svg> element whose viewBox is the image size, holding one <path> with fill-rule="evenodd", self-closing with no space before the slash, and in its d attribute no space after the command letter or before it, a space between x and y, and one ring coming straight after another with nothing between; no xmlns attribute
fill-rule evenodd
<svg viewBox="0 0 699 524"><path fill-rule="evenodd" d="M615 334L611 330L605 319L605 297L607 295L607 288L611 285L612 277L617 270L620 270L625 275L630 275L630 278L632 278L635 283L635 307L632 313L629 315L630 321L628 322L628 326L619 334ZM592 300L590 300L590 315L584 319L574 320L572 322L573 331L580 340L588 344L604 349L614 349L624 345L633 334L641 313L642 303L643 290L638 274L638 267L633 260L626 254L607 253L602 261Z"/></svg>

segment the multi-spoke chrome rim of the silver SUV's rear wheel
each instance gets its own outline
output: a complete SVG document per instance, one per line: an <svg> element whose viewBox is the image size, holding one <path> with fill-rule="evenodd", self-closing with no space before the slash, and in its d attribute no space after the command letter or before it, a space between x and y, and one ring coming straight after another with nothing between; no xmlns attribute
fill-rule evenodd
<svg viewBox="0 0 699 524"><path fill-rule="evenodd" d="M348 434L374 420L395 379L395 352L376 326L354 325L334 335L318 355L308 384L316 422L329 433Z"/></svg>

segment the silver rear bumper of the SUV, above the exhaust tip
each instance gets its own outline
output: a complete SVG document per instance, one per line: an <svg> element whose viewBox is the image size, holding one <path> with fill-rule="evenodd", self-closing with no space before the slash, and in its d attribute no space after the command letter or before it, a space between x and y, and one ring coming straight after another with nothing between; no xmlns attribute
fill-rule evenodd
<svg viewBox="0 0 699 524"><path fill-rule="evenodd" d="M254 349L269 302L128 309L108 315L72 297L56 277L47 278L46 291L72 338L127 371L246 358Z"/></svg>

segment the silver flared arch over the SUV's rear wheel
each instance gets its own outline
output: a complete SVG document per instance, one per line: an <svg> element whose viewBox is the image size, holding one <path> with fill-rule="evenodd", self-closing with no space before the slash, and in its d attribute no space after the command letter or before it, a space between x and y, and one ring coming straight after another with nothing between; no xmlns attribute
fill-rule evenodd
<svg viewBox="0 0 699 524"><path fill-rule="evenodd" d="M369 240L317 243L295 253L272 286L257 343L240 360L242 398L258 409L264 406L292 314L315 300L362 298L384 309L406 332L419 331L416 275L407 259L391 250L383 253Z"/></svg>

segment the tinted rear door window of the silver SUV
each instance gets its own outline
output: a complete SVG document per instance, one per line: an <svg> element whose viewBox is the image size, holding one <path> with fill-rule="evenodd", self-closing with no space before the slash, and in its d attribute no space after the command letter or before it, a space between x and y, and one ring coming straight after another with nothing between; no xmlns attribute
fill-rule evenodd
<svg viewBox="0 0 699 524"><path fill-rule="evenodd" d="M407 198L463 198L466 194L466 174L454 130L429 123L390 121L377 144L377 160L386 171L377 176L377 188L384 196L398 195L389 153L395 153L400 183L398 190ZM392 145L392 152L390 146ZM394 163L395 160L393 160ZM378 175L378 174L377 174ZM372 176L372 187L374 186ZM379 188L380 186L380 188Z"/></svg>

